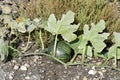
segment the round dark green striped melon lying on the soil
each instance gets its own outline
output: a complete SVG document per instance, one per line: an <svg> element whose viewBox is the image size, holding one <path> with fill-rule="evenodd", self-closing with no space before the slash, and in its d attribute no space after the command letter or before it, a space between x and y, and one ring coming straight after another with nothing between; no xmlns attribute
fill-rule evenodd
<svg viewBox="0 0 120 80"><path fill-rule="evenodd" d="M51 53L51 55L53 55L52 54L53 47L54 47L54 42L52 42L48 47L48 53ZM71 47L68 44L66 44L64 41L58 41L55 57L65 63L68 62L72 58Z"/></svg>

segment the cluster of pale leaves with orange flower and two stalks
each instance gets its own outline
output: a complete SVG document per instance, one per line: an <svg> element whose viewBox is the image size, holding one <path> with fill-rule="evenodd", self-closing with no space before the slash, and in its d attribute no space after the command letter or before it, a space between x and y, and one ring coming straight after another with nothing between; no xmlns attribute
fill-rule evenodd
<svg viewBox="0 0 120 80"><path fill-rule="evenodd" d="M13 20L11 16L4 16L4 23L7 23L8 26L11 29L11 34L15 34L17 35L17 32L19 33L28 33L28 41L27 41L27 45L24 48L25 52L28 48L29 45L29 41L30 41L30 36L31 36L31 32L33 32L35 29L39 28L40 32L39 32L39 36L40 36L40 41L42 43L42 49L44 49L44 44L43 44L43 40L42 40L42 32L40 28L43 28L43 24L41 23L41 18L35 18L33 20L30 20L29 18L23 18L23 17L19 17L16 20Z"/></svg>

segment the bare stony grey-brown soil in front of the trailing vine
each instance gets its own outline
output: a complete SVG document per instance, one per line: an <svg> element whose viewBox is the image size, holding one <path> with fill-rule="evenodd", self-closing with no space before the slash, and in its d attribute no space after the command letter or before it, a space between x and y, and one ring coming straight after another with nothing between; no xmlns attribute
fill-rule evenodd
<svg viewBox="0 0 120 80"><path fill-rule="evenodd" d="M120 80L120 72L84 65L67 69L45 56L19 57L0 63L0 80Z"/></svg>

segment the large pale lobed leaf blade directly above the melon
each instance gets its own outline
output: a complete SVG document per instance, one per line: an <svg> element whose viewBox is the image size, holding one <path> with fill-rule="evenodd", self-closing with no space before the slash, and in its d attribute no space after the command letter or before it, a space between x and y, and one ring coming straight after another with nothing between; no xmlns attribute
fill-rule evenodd
<svg viewBox="0 0 120 80"><path fill-rule="evenodd" d="M79 27L79 24L72 25L71 23L73 22L74 13L72 11L68 11L66 14L63 14L61 20L56 20L55 15L51 14L48 18L48 26L45 29L53 35L61 34L64 40L71 42L77 38L73 32L75 32Z"/></svg>

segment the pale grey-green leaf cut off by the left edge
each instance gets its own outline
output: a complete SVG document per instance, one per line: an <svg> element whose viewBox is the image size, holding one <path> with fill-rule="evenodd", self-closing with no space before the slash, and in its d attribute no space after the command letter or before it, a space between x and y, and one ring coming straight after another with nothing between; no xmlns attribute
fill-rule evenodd
<svg viewBox="0 0 120 80"><path fill-rule="evenodd" d="M3 38L0 38L0 56L1 61L4 61L8 57L8 47Z"/></svg>

